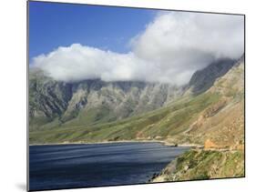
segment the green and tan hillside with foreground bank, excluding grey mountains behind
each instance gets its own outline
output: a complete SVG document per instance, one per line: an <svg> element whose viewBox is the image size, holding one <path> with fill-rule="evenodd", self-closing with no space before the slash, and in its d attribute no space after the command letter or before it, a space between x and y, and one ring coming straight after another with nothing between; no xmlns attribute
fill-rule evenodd
<svg viewBox="0 0 256 192"><path fill-rule="evenodd" d="M132 104L131 104L132 105ZM241 60L200 95L184 94L167 106L112 121L111 111L94 108L89 116L51 121L29 133L30 144L161 140L197 144L150 181L244 176L244 63ZM109 117L109 116L108 116ZM43 121L44 119L42 119ZM112 119L113 120L113 119ZM87 122L92 122L87 124Z"/></svg>

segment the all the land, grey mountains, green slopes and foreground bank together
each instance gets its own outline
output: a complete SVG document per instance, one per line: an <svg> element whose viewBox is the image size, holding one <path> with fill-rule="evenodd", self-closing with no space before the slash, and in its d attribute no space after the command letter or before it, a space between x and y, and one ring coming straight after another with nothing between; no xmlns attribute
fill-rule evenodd
<svg viewBox="0 0 256 192"><path fill-rule="evenodd" d="M210 78L196 72L190 81L194 83L182 89L98 80L65 84L34 72L29 84L29 143L155 140L193 144L203 149L191 149L176 158L150 182L243 177L244 57L228 66L218 64L221 67L205 69ZM195 87L200 88L193 91Z"/></svg>

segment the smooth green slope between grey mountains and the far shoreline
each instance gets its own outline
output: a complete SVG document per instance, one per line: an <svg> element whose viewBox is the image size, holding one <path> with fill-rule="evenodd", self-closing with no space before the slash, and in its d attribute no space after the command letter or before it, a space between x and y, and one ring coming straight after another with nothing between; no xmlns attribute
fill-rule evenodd
<svg viewBox="0 0 256 192"><path fill-rule="evenodd" d="M30 144L152 139L157 136L166 138L186 130L202 110L218 102L219 98L219 95L210 93L195 97L188 96L159 110L111 123L83 125L82 120L79 123L78 121L56 123L48 126L51 128L31 131ZM100 122L107 113L108 110L102 109L102 116L92 111L87 116L77 116L77 118L94 118L94 120L97 118Z"/></svg>

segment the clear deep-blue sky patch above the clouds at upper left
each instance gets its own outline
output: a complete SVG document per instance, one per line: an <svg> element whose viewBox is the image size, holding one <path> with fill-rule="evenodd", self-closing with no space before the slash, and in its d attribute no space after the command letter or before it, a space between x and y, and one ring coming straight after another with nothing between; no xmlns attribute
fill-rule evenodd
<svg viewBox="0 0 256 192"><path fill-rule="evenodd" d="M29 2L29 59L74 43L118 53L156 11L98 5Z"/></svg>

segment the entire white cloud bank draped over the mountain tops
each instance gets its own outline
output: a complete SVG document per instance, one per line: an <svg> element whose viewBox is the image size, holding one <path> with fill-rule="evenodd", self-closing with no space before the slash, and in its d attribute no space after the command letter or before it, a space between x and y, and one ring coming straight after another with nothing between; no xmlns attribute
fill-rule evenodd
<svg viewBox="0 0 256 192"><path fill-rule="evenodd" d="M34 57L32 66L65 82L100 78L181 86L214 60L243 54L243 22L241 15L160 12L128 42L128 54L73 44Z"/></svg>

